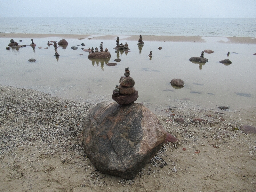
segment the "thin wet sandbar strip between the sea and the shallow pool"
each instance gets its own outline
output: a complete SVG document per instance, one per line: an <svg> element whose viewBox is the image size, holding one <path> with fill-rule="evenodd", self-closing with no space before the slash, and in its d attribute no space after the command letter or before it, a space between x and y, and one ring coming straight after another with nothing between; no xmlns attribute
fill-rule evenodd
<svg viewBox="0 0 256 192"><path fill-rule="evenodd" d="M115 40L116 35L69 35L69 34L25 34L25 33L0 33L2 38L45 38L45 37L61 37L69 39L96 39L96 40ZM171 41L171 42L206 42L201 36L142 36L143 41ZM226 37L225 43L237 44L256 44L256 37ZM120 40L138 41L139 35L121 35Z"/></svg>

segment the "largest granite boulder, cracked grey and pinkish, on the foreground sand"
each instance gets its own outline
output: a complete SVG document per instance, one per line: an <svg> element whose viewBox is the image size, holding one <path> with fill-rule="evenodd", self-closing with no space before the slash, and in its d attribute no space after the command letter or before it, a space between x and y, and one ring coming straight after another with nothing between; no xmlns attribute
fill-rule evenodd
<svg viewBox="0 0 256 192"><path fill-rule="evenodd" d="M84 151L99 171L133 179L162 147L166 132L142 104L102 102L86 116L83 137Z"/></svg>

